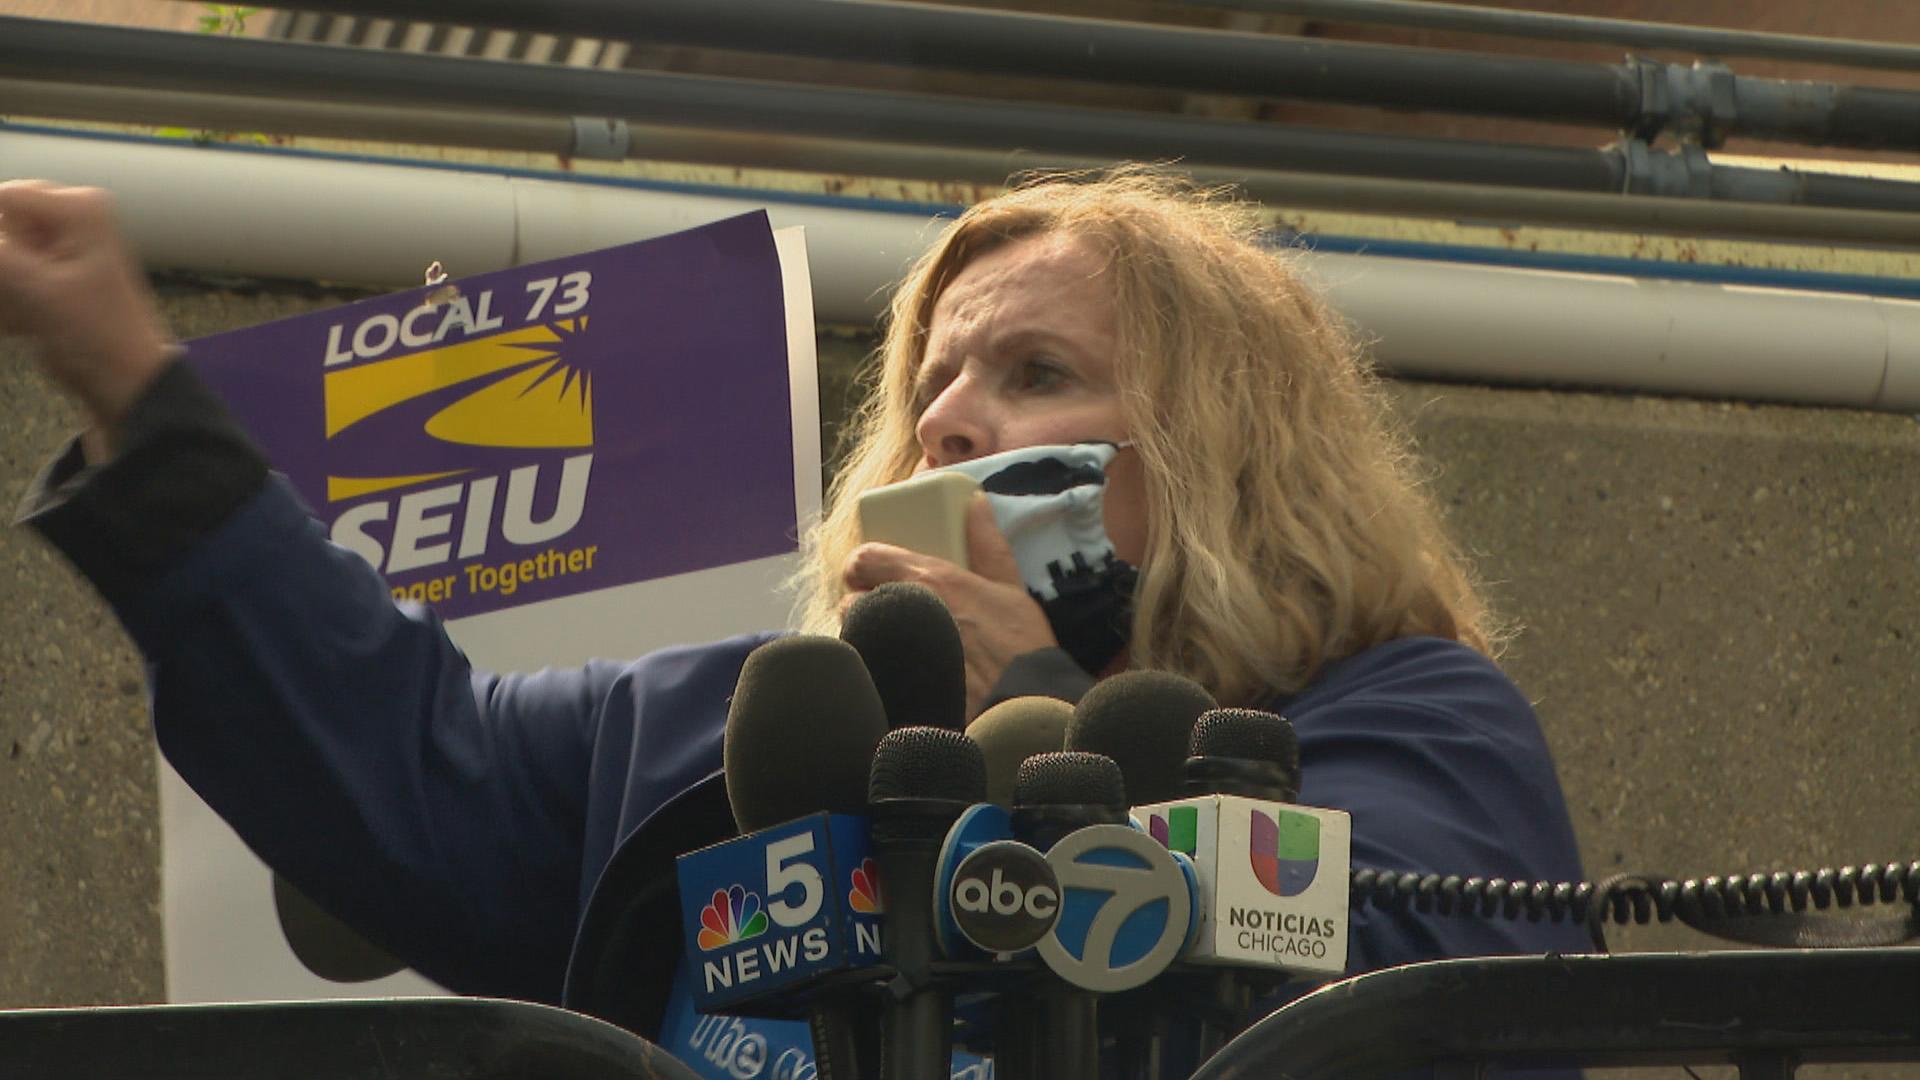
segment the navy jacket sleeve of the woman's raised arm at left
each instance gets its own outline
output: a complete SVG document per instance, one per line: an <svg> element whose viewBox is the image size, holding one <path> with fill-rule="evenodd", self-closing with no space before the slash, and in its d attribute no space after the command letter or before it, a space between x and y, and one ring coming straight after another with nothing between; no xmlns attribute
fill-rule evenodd
<svg viewBox="0 0 1920 1080"><path fill-rule="evenodd" d="M175 363L121 452L69 448L23 521L148 661L167 759L301 892L442 984L557 1001L591 740L620 665L470 671L326 542ZM609 701L612 700L612 705Z"/></svg>

